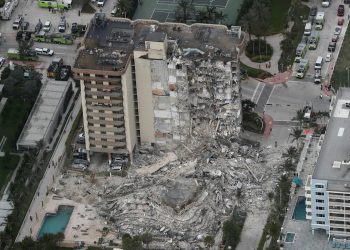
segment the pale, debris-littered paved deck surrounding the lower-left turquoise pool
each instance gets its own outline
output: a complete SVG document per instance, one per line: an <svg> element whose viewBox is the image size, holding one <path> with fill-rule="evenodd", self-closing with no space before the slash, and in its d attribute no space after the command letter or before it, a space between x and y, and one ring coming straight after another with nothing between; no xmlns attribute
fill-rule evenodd
<svg viewBox="0 0 350 250"><path fill-rule="evenodd" d="M38 214L38 219L33 228L32 237L38 235L45 214L56 213L58 206L73 206L74 210L64 232L65 240L63 243L74 244L75 241L84 241L88 245L94 245L98 238L102 236L103 222L97 218L97 211L89 205L79 204L68 199L53 199L51 195L44 209ZM33 218L35 219L35 218Z"/></svg>

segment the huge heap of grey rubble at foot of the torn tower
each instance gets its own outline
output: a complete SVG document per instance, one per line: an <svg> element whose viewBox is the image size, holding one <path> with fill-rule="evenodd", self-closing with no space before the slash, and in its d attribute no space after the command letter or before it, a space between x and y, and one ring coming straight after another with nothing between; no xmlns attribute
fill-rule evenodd
<svg viewBox="0 0 350 250"><path fill-rule="evenodd" d="M193 249L203 244L201 235L215 236L235 207L269 206L267 193L281 172L280 149L223 139L186 145L176 151L179 160L152 175L107 182L100 216L120 233L149 231L159 247Z"/></svg>

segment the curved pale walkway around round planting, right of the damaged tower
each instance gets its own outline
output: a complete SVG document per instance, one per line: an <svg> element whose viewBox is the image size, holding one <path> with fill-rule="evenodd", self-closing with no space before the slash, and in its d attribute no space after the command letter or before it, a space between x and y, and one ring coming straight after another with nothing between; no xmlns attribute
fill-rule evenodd
<svg viewBox="0 0 350 250"><path fill-rule="evenodd" d="M271 47L273 48L273 54L272 54L272 57L270 60L270 62L271 62L270 68L266 68L265 63L252 62L246 56L245 51L243 51L243 53L241 54L240 61L249 67L256 68L256 69L260 68L260 69L265 70L265 71L271 73L272 75L274 75L274 74L277 74L279 72L278 61L279 61L281 54L282 54L280 43L283 40L283 35L276 34L276 35L272 35L272 36L267 36L265 39L266 39L267 43L269 43L271 45Z"/></svg>

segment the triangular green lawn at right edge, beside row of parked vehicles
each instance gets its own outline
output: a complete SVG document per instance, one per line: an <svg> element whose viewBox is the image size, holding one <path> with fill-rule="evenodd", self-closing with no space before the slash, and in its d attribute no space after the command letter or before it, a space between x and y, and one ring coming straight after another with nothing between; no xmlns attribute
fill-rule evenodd
<svg viewBox="0 0 350 250"><path fill-rule="evenodd" d="M348 86L348 72L346 67L350 67L350 32L345 33L343 45L340 49L338 60L335 63L331 84L335 89ZM350 73L350 72L349 72Z"/></svg>

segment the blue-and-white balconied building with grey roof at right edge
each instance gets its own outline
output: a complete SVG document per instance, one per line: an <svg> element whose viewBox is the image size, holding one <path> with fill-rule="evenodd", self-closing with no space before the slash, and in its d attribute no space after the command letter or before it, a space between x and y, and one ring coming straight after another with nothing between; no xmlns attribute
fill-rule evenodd
<svg viewBox="0 0 350 250"><path fill-rule="evenodd" d="M313 175L305 185L307 219L314 230L350 236L350 89L338 90Z"/></svg>

